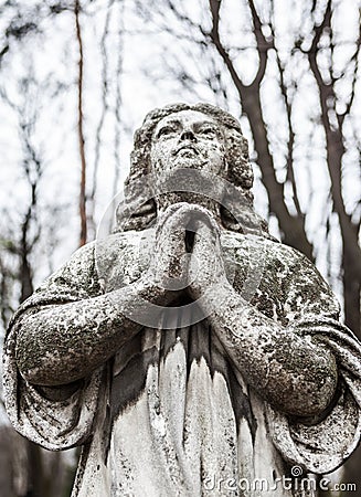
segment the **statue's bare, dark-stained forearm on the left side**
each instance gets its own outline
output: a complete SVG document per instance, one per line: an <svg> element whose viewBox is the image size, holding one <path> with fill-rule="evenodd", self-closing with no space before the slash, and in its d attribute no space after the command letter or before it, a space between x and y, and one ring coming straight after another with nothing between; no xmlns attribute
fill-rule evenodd
<svg viewBox="0 0 361 497"><path fill-rule="evenodd" d="M149 305L164 306L170 296L138 282L75 303L49 306L21 317L17 362L22 376L43 385L84 378L130 340ZM134 317L134 319L132 319Z"/></svg>

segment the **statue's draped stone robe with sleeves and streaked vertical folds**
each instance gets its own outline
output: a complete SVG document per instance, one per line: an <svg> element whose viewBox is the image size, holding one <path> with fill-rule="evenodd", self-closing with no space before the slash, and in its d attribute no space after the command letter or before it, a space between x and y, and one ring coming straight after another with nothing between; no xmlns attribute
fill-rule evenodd
<svg viewBox="0 0 361 497"><path fill-rule="evenodd" d="M279 480L296 465L304 477L332 472L355 448L360 345L339 322L338 303L317 269L280 243L229 231L221 236L240 293L254 271L252 254L262 251L251 300L259 315L335 355L337 392L318 416L296 419L269 405L246 384L208 319L189 325L185 311L171 326L160 318L158 327L142 327L88 378L59 387L23 379L15 343L26 317L137 281L151 256L141 253L141 236L118 233L82 247L15 314L4 353L15 429L49 450L83 446L73 497L314 495L295 478L291 488Z"/></svg>

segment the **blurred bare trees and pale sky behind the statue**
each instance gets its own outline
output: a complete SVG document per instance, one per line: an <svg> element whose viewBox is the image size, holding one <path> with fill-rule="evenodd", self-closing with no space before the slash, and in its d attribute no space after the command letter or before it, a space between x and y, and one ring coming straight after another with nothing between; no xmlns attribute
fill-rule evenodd
<svg viewBox="0 0 361 497"><path fill-rule="evenodd" d="M256 210L316 263L361 337L360 9L360 0L0 1L1 340L18 305L96 236L145 114L199 101L240 118ZM70 495L76 452L24 441L2 404L0 438L3 497ZM335 478L361 489L359 458Z"/></svg>

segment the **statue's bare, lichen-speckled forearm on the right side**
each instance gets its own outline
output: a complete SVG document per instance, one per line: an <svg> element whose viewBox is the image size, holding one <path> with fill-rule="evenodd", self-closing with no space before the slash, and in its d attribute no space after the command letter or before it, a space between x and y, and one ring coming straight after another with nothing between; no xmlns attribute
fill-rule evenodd
<svg viewBox="0 0 361 497"><path fill-rule="evenodd" d="M217 305L205 304L213 329L232 361L273 406L295 415L315 415L331 401L337 384L332 353L322 345L278 326L231 286L217 288Z"/></svg>

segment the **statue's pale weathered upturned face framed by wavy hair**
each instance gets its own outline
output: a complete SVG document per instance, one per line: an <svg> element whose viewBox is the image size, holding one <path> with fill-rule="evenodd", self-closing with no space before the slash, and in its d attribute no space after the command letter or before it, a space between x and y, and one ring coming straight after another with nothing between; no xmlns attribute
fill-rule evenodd
<svg viewBox="0 0 361 497"><path fill-rule="evenodd" d="M212 117L195 110L171 114L153 131L150 158L158 173L191 168L219 175L225 169L223 130Z"/></svg>

